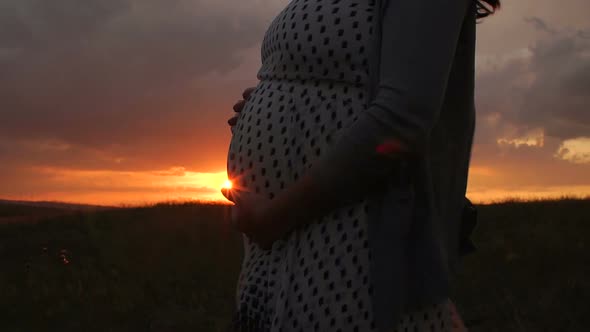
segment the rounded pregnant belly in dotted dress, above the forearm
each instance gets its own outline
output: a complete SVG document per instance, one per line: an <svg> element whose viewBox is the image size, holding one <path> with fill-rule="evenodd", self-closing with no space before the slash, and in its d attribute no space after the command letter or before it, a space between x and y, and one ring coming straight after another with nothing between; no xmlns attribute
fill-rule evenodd
<svg viewBox="0 0 590 332"><path fill-rule="evenodd" d="M230 142L227 173L234 187L274 198L366 109L363 92L346 85L261 81Z"/></svg>

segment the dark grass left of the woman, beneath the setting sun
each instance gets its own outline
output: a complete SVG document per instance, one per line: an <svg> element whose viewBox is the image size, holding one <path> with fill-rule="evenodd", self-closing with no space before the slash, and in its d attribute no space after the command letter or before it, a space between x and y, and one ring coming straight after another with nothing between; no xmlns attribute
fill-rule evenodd
<svg viewBox="0 0 590 332"><path fill-rule="evenodd" d="M221 331L241 255L226 212L163 204L0 226L0 331Z"/></svg>

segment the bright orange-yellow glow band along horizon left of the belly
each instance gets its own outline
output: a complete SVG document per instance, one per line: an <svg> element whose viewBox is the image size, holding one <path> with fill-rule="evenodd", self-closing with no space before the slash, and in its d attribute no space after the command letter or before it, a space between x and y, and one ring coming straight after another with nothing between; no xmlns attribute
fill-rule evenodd
<svg viewBox="0 0 590 332"><path fill-rule="evenodd" d="M31 167L35 187L2 183L0 197L98 205L145 205L164 201L227 203L220 190L228 179L220 172L192 172L183 167L154 171L77 170ZM12 189L10 191L10 188ZM20 188L19 190L17 190ZM47 188L47 189L45 189Z"/></svg>

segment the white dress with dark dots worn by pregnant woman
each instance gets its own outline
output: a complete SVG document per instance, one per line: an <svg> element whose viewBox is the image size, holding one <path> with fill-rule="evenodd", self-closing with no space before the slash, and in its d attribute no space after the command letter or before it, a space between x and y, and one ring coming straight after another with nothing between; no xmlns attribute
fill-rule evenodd
<svg viewBox="0 0 590 332"><path fill-rule="evenodd" d="M235 186L274 198L367 108L373 7L374 0L292 0L273 20L260 82L230 143ZM366 200L334 210L271 250L244 236L233 329L375 331L367 211ZM396 331L448 331L449 322L440 304L405 315Z"/></svg>

